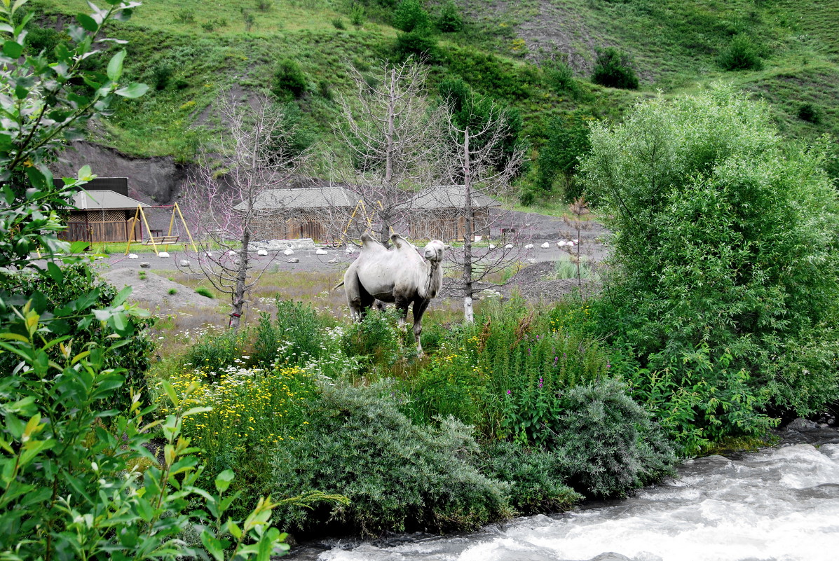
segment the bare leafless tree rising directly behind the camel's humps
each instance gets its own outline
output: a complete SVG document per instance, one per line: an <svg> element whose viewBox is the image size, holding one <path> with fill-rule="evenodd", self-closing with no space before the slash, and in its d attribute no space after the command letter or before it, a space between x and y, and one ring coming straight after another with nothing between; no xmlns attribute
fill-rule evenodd
<svg viewBox="0 0 839 561"><path fill-rule="evenodd" d="M425 93L423 66L384 64L368 76L351 66L350 73L356 88L340 98L336 125L349 164L333 153L331 167L361 203L342 217L341 230L354 223L352 231L372 230L387 244L392 232L404 231L410 191L439 181L445 169L440 113Z"/></svg>

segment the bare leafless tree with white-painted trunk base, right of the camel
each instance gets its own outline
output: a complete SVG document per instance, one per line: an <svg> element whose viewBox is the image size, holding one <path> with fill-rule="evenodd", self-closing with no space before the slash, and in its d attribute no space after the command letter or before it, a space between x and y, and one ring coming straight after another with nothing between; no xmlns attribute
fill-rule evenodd
<svg viewBox="0 0 839 561"><path fill-rule="evenodd" d="M462 270L459 284L465 319L473 321L472 299L482 290L478 288L478 283L519 262L523 255L521 241L518 244L491 244L487 241L486 247L480 249L474 246L474 242L476 226L481 226L481 230L488 234L498 225L510 223L508 210L489 201L510 195L510 181L522 164L524 149L518 147L513 153L503 152L501 147L508 137L508 122L504 112L494 104L480 118L467 118L465 121L477 124L458 126L451 113L446 118L451 180L459 187L452 191L457 196L452 197L450 209L463 225L463 244L455 247L450 255L455 266ZM482 220L478 223L477 210L489 206L492 209L480 213Z"/></svg>

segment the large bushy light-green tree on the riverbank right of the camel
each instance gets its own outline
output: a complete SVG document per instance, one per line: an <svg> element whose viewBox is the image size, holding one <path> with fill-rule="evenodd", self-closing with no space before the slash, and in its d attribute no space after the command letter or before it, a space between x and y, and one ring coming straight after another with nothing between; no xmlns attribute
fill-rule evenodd
<svg viewBox="0 0 839 561"><path fill-rule="evenodd" d="M615 232L599 330L637 356L637 395L673 434L696 449L765 429L769 398L836 401L835 368L816 370L839 298L826 149L789 149L769 108L726 86L645 101L590 138L581 172ZM795 403L779 387L802 369Z"/></svg>

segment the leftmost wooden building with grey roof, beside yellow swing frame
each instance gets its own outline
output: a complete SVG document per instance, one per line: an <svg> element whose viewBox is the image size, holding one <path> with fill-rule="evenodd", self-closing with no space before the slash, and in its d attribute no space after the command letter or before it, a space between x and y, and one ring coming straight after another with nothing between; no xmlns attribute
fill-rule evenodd
<svg viewBox="0 0 839 561"><path fill-rule="evenodd" d="M96 178L73 196L67 229L59 238L68 242L128 242L140 239L139 222L133 221L137 206L145 203L128 196L128 178Z"/></svg>

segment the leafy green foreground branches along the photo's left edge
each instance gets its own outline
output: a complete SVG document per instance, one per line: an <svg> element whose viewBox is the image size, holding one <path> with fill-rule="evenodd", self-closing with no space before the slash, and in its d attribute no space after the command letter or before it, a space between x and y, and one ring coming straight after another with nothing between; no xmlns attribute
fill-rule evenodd
<svg viewBox="0 0 839 561"><path fill-rule="evenodd" d="M123 49L109 53L103 70L83 64L107 50L107 23L124 21L139 4L91 4L93 13L80 13L78 25L69 27L69 40L51 53L24 55L33 17L18 18L24 3L0 0L0 270L15 275L26 266L61 285L72 272L60 263L76 262L67 254L79 248L57 239L60 211L93 175L84 167L55 187L48 164L65 141L81 137L90 118L107 115L117 97L146 91L122 80ZM74 86L81 83L86 88ZM35 249L45 265L30 262ZM270 498L237 521L226 516L237 499L226 495L232 472L216 477L215 492L196 485L202 470L180 428L183 418L205 409L190 408L165 383L174 413L164 419L149 423L153 408L143 408L138 394L122 414L107 407L125 383L124 369L107 366L108 357L125 351L138 330L132 318L148 312L126 304L130 288L107 304L99 288L80 292L50 305L26 288L0 285L0 349L4 361L13 357L0 378L0 558L283 553L283 536L268 524L276 506ZM110 335L74 344L77 333L93 326ZM162 458L144 446L154 428L165 442ZM195 527L200 543L185 544L185 527Z"/></svg>

